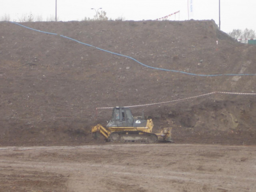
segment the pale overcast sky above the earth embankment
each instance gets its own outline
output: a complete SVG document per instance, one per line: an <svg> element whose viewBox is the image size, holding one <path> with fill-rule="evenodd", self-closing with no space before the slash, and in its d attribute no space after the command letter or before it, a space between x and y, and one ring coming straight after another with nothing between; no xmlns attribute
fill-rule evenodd
<svg viewBox="0 0 256 192"><path fill-rule="evenodd" d="M96 14L91 8L102 8L109 19L122 17L125 20L155 20L176 11L179 14L169 20L187 20L191 0L57 0L58 20L82 20ZM196 20L214 19L219 25L219 0L192 0L193 16ZM220 0L221 30L245 28L256 31L256 0ZM16 22L18 18L32 14L43 20L55 18L56 0L0 0L0 19L5 15Z"/></svg>

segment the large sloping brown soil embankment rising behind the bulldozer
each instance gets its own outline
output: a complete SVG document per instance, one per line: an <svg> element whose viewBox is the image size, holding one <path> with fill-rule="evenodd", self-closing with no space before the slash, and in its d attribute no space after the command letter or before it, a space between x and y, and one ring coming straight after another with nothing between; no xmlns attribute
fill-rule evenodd
<svg viewBox="0 0 256 192"><path fill-rule="evenodd" d="M96 108L142 104L134 116L173 127L178 143L256 144L256 95L190 98L254 93L256 76L177 72L256 73L256 47L213 20L19 24L39 31L0 23L0 145L103 142L91 126L112 111Z"/></svg>

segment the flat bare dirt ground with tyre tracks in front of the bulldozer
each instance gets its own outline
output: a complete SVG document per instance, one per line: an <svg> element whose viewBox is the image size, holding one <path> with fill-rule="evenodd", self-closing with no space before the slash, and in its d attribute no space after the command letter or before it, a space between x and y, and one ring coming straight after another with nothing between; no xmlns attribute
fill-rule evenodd
<svg viewBox="0 0 256 192"><path fill-rule="evenodd" d="M1 147L0 191L255 191L255 151L201 144Z"/></svg>

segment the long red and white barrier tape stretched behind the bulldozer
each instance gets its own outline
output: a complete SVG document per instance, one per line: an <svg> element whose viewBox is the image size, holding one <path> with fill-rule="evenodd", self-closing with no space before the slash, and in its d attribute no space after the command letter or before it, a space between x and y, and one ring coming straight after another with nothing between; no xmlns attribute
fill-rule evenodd
<svg viewBox="0 0 256 192"><path fill-rule="evenodd" d="M193 98L202 97L202 96L206 96L206 95L211 95L211 94L215 94L215 93L233 94L233 95L256 95L256 93L230 93L230 92L220 92L220 91L216 91L216 92L206 93L206 94L203 94L203 95L197 95L197 96L194 96L194 97L187 97L187 98L184 98L184 99L176 99L176 100L172 100L172 101L164 101L164 102L150 103L150 104L140 104L140 105L124 106L124 108L134 108L134 107L136 107L136 106L148 106L148 105L163 104L163 103L169 103L169 102L175 102L175 101L183 101L183 100L193 99ZM96 108L96 111L97 111L98 109L113 109L113 108L114 108L114 107L109 107L109 108Z"/></svg>

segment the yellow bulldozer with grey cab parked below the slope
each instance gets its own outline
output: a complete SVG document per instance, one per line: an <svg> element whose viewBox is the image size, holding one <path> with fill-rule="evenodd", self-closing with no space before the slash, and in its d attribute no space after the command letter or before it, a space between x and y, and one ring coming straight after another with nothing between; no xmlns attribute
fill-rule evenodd
<svg viewBox="0 0 256 192"><path fill-rule="evenodd" d="M119 142L139 142L139 143L155 143L173 142L171 138L171 127L163 128L161 133L152 133L153 129L152 119L144 119L142 117L134 118L129 108L115 107L113 108L112 119L103 127L97 124L92 127L94 138L97 134L102 134L106 141L119 141Z"/></svg>

